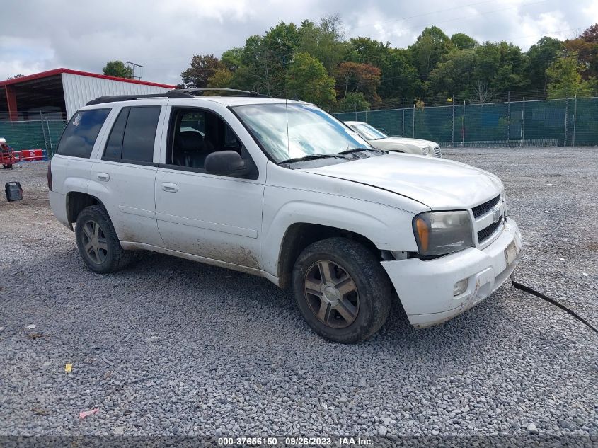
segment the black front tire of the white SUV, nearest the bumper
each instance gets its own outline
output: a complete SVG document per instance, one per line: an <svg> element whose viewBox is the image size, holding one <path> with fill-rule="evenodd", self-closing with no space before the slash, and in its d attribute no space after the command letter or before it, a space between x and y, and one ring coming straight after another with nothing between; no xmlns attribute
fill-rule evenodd
<svg viewBox="0 0 598 448"><path fill-rule="evenodd" d="M336 292L333 292L334 287L330 289L332 301L326 292L327 287L323 287L329 282L323 282L323 276L318 275L322 266L330 268L330 282L340 279L337 285L345 285ZM318 285L323 287L324 292L311 294ZM366 340L384 325L389 316L392 300L389 277L372 252L350 239L329 238L307 246L295 262L292 287L308 325L318 335L336 343L352 344ZM355 292L343 292L352 287L355 287ZM350 304L350 311L347 312L343 302ZM318 306L321 308L318 309ZM322 312L323 309L325 311ZM349 318L345 318L345 314ZM354 320L351 321L351 318Z"/></svg>

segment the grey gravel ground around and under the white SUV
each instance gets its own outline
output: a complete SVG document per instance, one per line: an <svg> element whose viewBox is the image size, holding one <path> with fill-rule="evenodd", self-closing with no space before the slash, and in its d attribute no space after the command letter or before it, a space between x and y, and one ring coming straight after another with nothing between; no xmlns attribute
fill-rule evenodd
<svg viewBox="0 0 598 448"><path fill-rule="evenodd" d="M598 323L597 149L444 151L505 183L525 243L517 280ZM598 335L540 299L503 285L442 326L393 311L366 343L327 343L258 277L151 253L88 271L45 170L0 171L25 190L0 198L0 435L598 444Z"/></svg>

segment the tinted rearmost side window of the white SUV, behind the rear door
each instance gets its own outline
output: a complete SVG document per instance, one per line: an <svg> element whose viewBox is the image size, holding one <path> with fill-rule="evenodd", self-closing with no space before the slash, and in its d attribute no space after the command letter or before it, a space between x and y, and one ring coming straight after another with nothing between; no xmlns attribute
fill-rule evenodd
<svg viewBox="0 0 598 448"><path fill-rule="evenodd" d="M62 132L57 154L89 157L110 109L79 110Z"/></svg>

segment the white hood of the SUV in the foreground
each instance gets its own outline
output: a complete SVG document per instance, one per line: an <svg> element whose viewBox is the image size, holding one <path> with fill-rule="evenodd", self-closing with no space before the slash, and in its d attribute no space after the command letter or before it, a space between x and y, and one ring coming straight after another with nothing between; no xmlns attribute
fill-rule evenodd
<svg viewBox="0 0 598 448"><path fill-rule="evenodd" d="M502 191L498 177L473 166L396 153L301 171L389 190L434 210L468 209Z"/></svg>

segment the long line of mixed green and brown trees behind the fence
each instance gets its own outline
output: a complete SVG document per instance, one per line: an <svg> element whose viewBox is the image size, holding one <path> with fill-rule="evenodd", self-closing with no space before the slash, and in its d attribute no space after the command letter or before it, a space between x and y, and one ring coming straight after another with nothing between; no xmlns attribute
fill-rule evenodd
<svg viewBox="0 0 598 448"><path fill-rule="evenodd" d="M195 54L181 88L258 91L341 112L403 104L598 95L598 23L576 38L541 38L527 52L512 42L477 42L425 28L407 48L346 38L338 15L299 26L280 22L221 57Z"/></svg>

